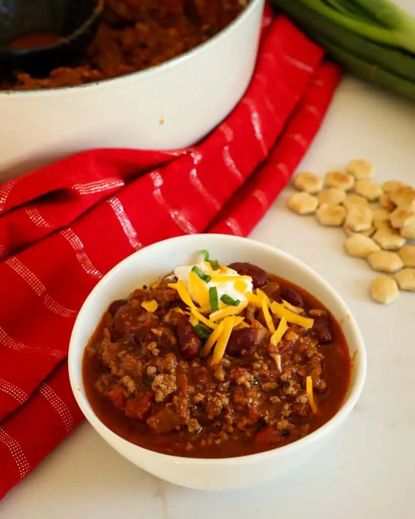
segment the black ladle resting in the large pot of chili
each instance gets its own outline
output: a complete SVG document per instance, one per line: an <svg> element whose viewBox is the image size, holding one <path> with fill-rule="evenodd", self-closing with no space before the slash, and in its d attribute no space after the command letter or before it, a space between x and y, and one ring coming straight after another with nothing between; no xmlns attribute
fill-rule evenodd
<svg viewBox="0 0 415 519"><path fill-rule="evenodd" d="M0 0L0 76L45 77L94 37L104 0Z"/></svg>

